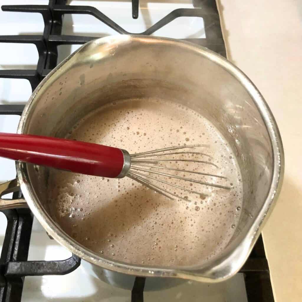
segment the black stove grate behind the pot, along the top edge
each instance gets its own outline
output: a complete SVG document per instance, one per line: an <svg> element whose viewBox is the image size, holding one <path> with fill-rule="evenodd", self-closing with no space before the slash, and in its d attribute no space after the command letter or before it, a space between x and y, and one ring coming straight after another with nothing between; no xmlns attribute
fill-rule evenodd
<svg viewBox="0 0 302 302"><path fill-rule="evenodd" d="M17 35L0 36L2 43L31 43L35 44L39 54L36 70L1 70L0 78L27 79L34 89L39 82L57 64L58 45L84 44L97 37L82 37L61 35L62 19L64 14L89 14L114 29L119 34L130 33L120 27L98 9L92 6L66 5L66 0L50 0L49 5L2 5L3 11L33 12L43 16L43 35ZM138 0L132 0L133 18L138 16ZM195 8L178 8L167 14L164 18L140 33L153 34L155 31L180 17L200 17L204 21L206 38L183 39L207 47L222 56L226 56L220 28L220 20L216 2L213 0L194 0Z"/></svg>

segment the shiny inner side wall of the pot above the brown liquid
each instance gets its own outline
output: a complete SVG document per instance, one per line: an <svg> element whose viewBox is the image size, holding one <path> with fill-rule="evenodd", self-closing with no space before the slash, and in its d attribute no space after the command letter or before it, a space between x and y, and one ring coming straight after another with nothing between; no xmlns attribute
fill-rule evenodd
<svg viewBox="0 0 302 302"><path fill-rule="evenodd" d="M127 98L156 96L194 109L226 137L239 162L243 211L231 239L239 241L268 194L272 149L259 110L246 89L214 56L211 59L190 44L175 47L169 42L137 40L89 43L37 92L23 132L64 137L89 112ZM27 165L33 190L46 211L47 171Z"/></svg>

